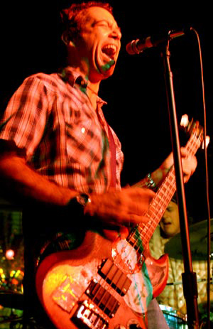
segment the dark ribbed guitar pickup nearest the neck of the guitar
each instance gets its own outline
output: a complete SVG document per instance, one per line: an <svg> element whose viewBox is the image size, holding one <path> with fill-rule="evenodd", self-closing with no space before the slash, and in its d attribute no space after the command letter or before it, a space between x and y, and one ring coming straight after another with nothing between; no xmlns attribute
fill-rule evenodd
<svg viewBox="0 0 213 329"><path fill-rule="evenodd" d="M98 274L102 276L102 278L107 281L107 284L110 284L111 288L114 288L119 295L124 296L129 290L131 280L115 264L113 264L110 259L104 261Z"/></svg>

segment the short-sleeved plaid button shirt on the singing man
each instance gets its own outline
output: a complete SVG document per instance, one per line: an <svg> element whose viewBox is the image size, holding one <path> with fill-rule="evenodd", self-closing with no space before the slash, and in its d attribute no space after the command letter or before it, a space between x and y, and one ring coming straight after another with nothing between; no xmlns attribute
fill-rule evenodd
<svg viewBox="0 0 213 329"><path fill-rule="evenodd" d="M26 161L58 185L84 193L104 193L111 180L108 126L102 99L96 111L87 97L84 78L71 68L63 74L38 73L24 80L4 114L0 139L26 150ZM82 87L83 86L83 87ZM118 137L116 188L124 156Z"/></svg>

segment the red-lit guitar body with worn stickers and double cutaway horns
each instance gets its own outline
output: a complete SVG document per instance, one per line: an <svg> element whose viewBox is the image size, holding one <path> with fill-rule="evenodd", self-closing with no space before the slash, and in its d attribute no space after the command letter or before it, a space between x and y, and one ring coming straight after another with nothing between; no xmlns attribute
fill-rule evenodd
<svg viewBox="0 0 213 329"><path fill-rule="evenodd" d="M126 260L122 249L128 247ZM141 269L132 271L128 264L134 254L126 240L110 242L88 231L77 249L46 257L38 267L36 290L55 327L147 328L146 304L165 287L168 257L155 260L147 250Z"/></svg>

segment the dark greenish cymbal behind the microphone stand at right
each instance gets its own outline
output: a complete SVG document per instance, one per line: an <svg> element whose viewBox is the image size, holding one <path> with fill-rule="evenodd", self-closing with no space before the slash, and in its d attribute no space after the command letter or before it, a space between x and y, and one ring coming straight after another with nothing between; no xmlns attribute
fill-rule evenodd
<svg viewBox="0 0 213 329"><path fill-rule="evenodd" d="M211 254L213 253L213 218L211 224ZM207 260L207 220L202 220L189 227L192 261ZM165 244L165 253L170 258L182 259L181 234L178 233Z"/></svg>

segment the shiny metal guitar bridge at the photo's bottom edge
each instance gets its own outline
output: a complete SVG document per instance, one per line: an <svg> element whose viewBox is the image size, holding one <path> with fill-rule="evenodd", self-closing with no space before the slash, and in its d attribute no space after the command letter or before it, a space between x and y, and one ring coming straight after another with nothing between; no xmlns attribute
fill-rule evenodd
<svg viewBox="0 0 213 329"><path fill-rule="evenodd" d="M80 304L70 320L79 328L107 329L109 327L107 318L100 315L94 304L87 300Z"/></svg>

